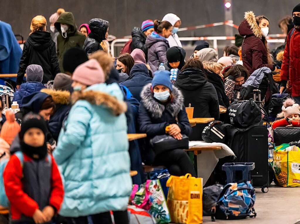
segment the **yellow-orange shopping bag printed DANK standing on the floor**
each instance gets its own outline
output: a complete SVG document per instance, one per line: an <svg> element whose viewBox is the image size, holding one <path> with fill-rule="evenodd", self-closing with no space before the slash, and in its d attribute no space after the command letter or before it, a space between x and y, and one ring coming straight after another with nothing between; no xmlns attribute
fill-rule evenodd
<svg viewBox="0 0 300 224"><path fill-rule="evenodd" d="M202 178L170 176L167 204L173 223L202 223Z"/></svg>

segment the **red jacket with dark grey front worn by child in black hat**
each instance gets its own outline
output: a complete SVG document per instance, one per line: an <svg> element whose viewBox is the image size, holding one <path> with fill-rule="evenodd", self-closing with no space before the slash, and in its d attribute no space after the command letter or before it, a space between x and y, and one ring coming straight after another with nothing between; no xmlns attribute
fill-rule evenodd
<svg viewBox="0 0 300 224"><path fill-rule="evenodd" d="M52 155L51 163L48 161L48 157L43 161L36 161L23 154L23 158L23 167L21 167L16 155L10 157L4 169L3 179L5 193L10 201L12 220L28 222L32 220L31 217L36 209L42 210L46 205L59 211L64 197L64 189ZM36 181L38 181L38 185L35 184ZM36 197L37 201L29 194ZM47 198L48 195L49 198Z"/></svg>

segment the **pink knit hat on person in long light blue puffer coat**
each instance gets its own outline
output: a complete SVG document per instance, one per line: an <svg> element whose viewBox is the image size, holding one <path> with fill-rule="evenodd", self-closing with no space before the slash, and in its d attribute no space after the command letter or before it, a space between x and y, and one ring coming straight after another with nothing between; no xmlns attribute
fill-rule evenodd
<svg viewBox="0 0 300 224"><path fill-rule="evenodd" d="M99 62L96 59L89 59L87 62L76 67L72 79L89 86L105 82L105 75Z"/></svg>

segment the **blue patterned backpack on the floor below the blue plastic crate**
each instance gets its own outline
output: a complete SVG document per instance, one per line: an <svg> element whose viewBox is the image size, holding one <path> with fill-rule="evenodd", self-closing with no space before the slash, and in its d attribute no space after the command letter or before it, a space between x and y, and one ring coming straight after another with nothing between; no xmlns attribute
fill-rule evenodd
<svg viewBox="0 0 300 224"><path fill-rule="evenodd" d="M250 182L229 183L224 186L216 207L212 208L211 220L256 217L254 202L255 190Z"/></svg>

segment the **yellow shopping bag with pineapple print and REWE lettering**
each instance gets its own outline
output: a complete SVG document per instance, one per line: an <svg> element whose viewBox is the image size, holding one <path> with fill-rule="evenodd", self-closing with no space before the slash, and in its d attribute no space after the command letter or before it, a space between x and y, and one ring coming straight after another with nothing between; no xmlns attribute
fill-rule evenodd
<svg viewBox="0 0 300 224"><path fill-rule="evenodd" d="M278 149L278 147L273 157L273 170L277 185L300 187L300 151L280 151L281 148Z"/></svg>

